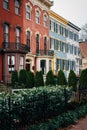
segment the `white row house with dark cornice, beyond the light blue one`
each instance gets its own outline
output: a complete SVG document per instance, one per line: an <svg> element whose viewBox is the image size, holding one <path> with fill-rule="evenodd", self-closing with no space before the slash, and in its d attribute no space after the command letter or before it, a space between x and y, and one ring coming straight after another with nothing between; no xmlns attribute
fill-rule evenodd
<svg viewBox="0 0 87 130"><path fill-rule="evenodd" d="M71 22L68 22L66 28L66 50L67 50L67 61L68 61L68 71L73 70L77 76L79 76L80 67L80 47L79 47L79 31L80 28Z"/></svg>

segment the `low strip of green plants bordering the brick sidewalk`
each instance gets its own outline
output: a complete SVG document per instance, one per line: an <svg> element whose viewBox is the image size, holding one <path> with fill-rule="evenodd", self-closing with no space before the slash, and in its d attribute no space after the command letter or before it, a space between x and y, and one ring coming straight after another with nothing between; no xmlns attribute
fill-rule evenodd
<svg viewBox="0 0 87 130"><path fill-rule="evenodd" d="M68 111L52 119L47 123L40 125L34 125L28 128L28 130L58 130L61 127L66 127L71 124L75 124L76 121L87 115L87 103L79 106L75 111Z"/></svg>

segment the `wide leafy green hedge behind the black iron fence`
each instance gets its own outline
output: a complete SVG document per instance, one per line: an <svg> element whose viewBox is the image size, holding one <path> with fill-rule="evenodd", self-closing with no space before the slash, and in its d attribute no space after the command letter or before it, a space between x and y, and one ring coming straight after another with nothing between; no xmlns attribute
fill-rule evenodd
<svg viewBox="0 0 87 130"><path fill-rule="evenodd" d="M66 94L68 102L71 97L71 90L69 88L66 88ZM4 104L3 109L5 108L4 113L7 111L9 113L8 99L9 95L2 99L2 103ZM12 110L11 116L23 122L26 120L27 122L40 122L66 111L63 86L46 86L20 90L10 96L10 101ZM6 116L7 115L4 115L4 118L6 118Z"/></svg>

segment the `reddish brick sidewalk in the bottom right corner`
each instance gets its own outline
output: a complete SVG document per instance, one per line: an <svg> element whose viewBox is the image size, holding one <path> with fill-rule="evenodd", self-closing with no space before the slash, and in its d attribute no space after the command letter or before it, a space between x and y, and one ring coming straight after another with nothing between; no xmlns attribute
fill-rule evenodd
<svg viewBox="0 0 87 130"><path fill-rule="evenodd" d="M80 119L77 124L61 130L87 130L87 117Z"/></svg>

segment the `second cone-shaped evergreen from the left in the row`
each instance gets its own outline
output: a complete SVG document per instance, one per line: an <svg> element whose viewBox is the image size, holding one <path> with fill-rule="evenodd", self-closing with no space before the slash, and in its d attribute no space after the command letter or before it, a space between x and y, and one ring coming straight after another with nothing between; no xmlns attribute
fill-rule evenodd
<svg viewBox="0 0 87 130"><path fill-rule="evenodd" d="M20 70L19 72L19 84L20 85L25 85L26 84L26 77L27 77L27 73L25 69Z"/></svg>

